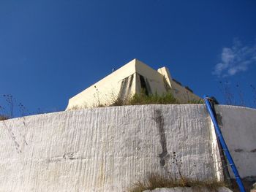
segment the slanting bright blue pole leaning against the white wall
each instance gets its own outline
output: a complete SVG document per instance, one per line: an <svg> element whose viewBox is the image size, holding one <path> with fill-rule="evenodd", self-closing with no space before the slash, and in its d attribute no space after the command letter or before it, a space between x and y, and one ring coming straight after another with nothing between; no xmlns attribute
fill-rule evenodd
<svg viewBox="0 0 256 192"><path fill-rule="evenodd" d="M228 162L231 166L231 169L236 177L236 183L238 184L240 191L245 192L244 185L241 181L241 177L239 176L238 170L236 169L236 165L231 157L230 151L227 148L226 142L225 142L224 138L222 137L222 131L220 131L219 125L217 123L217 119L215 118L214 112L211 108L210 101L208 101L210 98L208 98L208 96L203 96L203 98L204 98L203 100L206 103L206 108L211 116L211 120L214 123L214 128L215 128L215 132L217 134L217 138L219 139L219 143L220 143L220 145L222 145L222 149L224 150L227 160L228 160Z"/></svg>

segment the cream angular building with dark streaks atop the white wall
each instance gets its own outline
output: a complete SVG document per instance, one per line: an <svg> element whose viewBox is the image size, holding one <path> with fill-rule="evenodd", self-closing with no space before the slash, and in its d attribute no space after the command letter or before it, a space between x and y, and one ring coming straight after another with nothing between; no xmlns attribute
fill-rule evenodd
<svg viewBox="0 0 256 192"><path fill-rule="evenodd" d="M200 99L191 89L174 80L166 67L156 71L138 61L138 59L133 59L69 99L66 110L97 107L99 105L108 106L117 98L127 99L135 93L140 93L142 89L146 91L146 94L157 93L159 95L170 91L181 103Z"/></svg>

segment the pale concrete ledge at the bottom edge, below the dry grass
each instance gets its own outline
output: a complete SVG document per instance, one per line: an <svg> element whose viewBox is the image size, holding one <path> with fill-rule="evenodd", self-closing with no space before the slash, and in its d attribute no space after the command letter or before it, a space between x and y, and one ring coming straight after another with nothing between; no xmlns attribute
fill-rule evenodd
<svg viewBox="0 0 256 192"><path fill-rule="evenodd" d="M156 188L154 190L146 190L143 192L232 192L229 188L217 188L216 190L209 190L208 188Z"/></svg>

